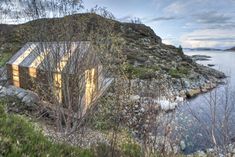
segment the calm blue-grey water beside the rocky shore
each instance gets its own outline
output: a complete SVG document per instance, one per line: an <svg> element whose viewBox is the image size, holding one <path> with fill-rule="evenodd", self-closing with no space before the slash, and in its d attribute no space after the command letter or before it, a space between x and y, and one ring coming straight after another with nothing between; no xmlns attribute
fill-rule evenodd
<svg viewBox="0 0 235 157"><path fill-rule="evenodd" d="M197 150L204 150L212 147L210 137L210 127L212 126L212 109L210 104L216 104L215 110L215 136L217 143L222 144L222 122L225 115L226 106L229 107L230 121L229 125L229 138L235 138L235 110L233 107L235 94L235 52L223 51L186 51L186 55L208 55L212 58L209 61L198 61L199 64L206 65L214 64L217 70L223 71L228 75L229 95L226 97L226 85L221 85L213 89L209 93L201 94L194 99L186 102L184 105L176 110L176 130L182 135L182 139L186 143L185 153L192 153ZM215 95L216 94L216 95ZM215 98L216 97L216 98ZM210 100L216 100L216 103L210 103ZM228 105L225 105L228 104ZM197 118L195 118L197 117ZM209 131L209 132L208 132Z"/></svg>

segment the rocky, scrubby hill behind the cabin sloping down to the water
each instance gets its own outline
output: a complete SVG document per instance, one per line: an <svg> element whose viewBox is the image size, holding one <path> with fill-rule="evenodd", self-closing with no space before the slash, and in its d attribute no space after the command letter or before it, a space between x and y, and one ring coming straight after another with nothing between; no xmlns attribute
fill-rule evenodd
<svg viewBox="0 0 235 157"><path fill-rule="evenodd" d="M73 36L68 37L65 30ZM96 36L92 36L94 32ZM121 52L127 57L126 73L132 79L164 78L179 92L201 89L206 82L216 83L225 76L195 63L181 49L163 44L162 39L146 25L121 23L90 13L39 19L21 25L0 25L0 55L7 56L2 61L4 63L26 42L44 37L45 41L64 41L90 40L90 37L106 39L111 35L124 40ZM103 46L100 43L97 44Z"/></svg>

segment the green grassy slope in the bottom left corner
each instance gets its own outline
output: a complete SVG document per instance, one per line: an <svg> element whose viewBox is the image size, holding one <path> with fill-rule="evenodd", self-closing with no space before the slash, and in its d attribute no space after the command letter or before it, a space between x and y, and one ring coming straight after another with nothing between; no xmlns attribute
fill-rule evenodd
<svg viewBox="0 0 235 157"><path fill-rule="evenodd" d="M0 156L94 156L88 149L49 141L26 117L7 114L4 108L0 101Z"/></svg>

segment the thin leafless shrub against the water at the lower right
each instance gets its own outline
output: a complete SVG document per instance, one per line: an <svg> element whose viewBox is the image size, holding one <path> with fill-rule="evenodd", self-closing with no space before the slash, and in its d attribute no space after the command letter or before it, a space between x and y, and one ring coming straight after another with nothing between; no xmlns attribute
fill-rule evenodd
<svg viewBox="0 0 235 157"><path fill-rule="evenodd" d="M203 102L205 106L198 112L189 106L189 113L205 133L204 138L209 141L208 144L214 149L214 153L226 155L234 138L232 130L235 100L229 81L223 87L210 91L204 96Z"/></svg>

